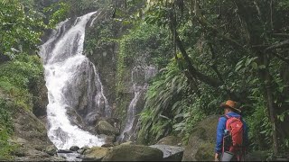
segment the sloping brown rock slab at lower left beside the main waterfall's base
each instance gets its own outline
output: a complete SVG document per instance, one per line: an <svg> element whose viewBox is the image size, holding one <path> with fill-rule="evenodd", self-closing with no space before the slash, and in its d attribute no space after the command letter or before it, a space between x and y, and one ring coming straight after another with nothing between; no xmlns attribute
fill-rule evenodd
<svg viewBox="0 0 289 162"><path fill-rule="evenodd" d="M14 150L14 160L63 160L53 156L49 149L53 144L48 139L45 124L38 119L33 112L27 112L22 108L14 110L14 137L11 143L17 147Z"/></svg>

